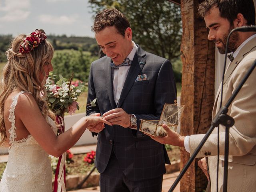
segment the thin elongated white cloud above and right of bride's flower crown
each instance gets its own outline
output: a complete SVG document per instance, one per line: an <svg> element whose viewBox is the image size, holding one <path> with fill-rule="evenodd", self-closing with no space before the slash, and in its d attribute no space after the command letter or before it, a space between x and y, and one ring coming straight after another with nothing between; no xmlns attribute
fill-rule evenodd
<svg viewBox="0 0 256 192"><path fill-rule="evenodd" d="M72 16L53 16L53 15L47 15L43 14L39 16L39 21L46 24L58 24L58 25L64 25L64 24L72 24L74 22L77 22L78 15L72 15Z"/></svg>

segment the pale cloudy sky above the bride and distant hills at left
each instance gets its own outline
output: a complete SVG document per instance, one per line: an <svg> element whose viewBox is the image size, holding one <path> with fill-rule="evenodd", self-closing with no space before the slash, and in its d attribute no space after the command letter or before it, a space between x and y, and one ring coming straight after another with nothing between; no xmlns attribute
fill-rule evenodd
<svg viewBox="0 0 256 192"><path fill-rule="evenodd" d="M94 37L88 0L0 0L0 34L47 34Z"/></svg>

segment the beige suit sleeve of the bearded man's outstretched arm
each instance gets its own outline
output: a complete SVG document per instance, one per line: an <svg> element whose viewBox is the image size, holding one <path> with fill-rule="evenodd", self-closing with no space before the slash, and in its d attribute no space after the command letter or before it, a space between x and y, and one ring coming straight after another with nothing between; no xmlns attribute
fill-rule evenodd
<svg viewBox="0 0 256 192"><path fill-rule="evenodd" d="M250 54L256 54L251 52ZM228 81L223 92L223 105L226 104L233 91L255 60L255 55L242 60ZM228 114L234 118L235 125L230 128L229 154L243 156L248 152L256 152L256 69L242 86L240 92L229 107ZM211 134L198 153L197 157L217 155L217 128ZM220 126L220 155L224 155L225 128ZM194 152L204 134L191 135L189 140L190 154ZM255 153L256 154L256 153Z"/></svg>

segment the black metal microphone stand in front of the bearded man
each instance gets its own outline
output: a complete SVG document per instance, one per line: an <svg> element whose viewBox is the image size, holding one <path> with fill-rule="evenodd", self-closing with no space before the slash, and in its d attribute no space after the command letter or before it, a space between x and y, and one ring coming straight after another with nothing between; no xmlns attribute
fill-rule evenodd
<svg viewBox="0 0 256 192"><path fill-rule="evenodd" d="M232 34L232 32L234 32L235 30L239 30L239 28L235 28L233 29L230 34L228 35L227 38L227 42L229 41L230 35ZM228 44L226 45L226 54L227 54L227 50L228 50ZM226 58L226 57L225 57ZM226 59L225 59L225 64L224 66L226 66ZM230 96L228 102L226 102L225 106L221 107L220 110L218 111L218 113L216 114L216 116L214 117L214 119L211 122L211 126L209 128L209 130L206 132L204 138L202 139L202 141L200 142L200 144L198 145L198 147L196 148L196 150L194 151L194 153L190 156L188 162L186 163L186 165L184 166L184 168L181 170L180 174L178 175L178 177L176 178L176 180L174 181L174 183L172 184L171 188L168 190L168 192L173 192L173 190L175 189L175 187L177 186L177 184L180 182L182 176L185 174L186 170L188 170L190 164L193 162L193 160L196 158L196 155L198 154L198 152L200 151L200 149L202 148L202 146L204 145L204 143L206 142L207 138L210 136L210 134L212 133L213 129L218 126L219 124L222 124L226 127L226 133L225 133L225 155L224 155L224 180L223 180L223 192L227 191L227 181L228 181L228 147L229 147L229 128L232 127L234 125L234 119L230 116L227 115L228 112L228 107L230 106L230 104L232 103L232 101L234 100L234 98L236 97L236 95L238 94L238 92L240 91L240 89L242 88L243 84L246 82L246 80L248 79L248 77L250 76L250 74L252 73L252 71L254 70L256 66L256 60L254 60L252 66L250 67L250 69L248 70L248 72L245 74L244 78L242 79L242 81L240 82L240 84L238 85L238 87L236 88L236 90L234 90L233 94ZM222 81L223 84L223 81ZM218 189L217 189L218 190Z"/></svg>

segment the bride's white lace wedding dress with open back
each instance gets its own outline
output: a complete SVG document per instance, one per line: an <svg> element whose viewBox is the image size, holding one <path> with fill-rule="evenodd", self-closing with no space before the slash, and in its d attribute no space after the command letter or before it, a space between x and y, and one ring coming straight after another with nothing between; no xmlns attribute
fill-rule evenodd
<svg viewBox="0 0 256 192"><path fill-rule="evenodd" d="M0 192L52 192L52 168L49 154L29 135L16 141L15 106L20 92L12 98L9 121L12 123L10 133L9 157L0 182ZM57 127L48 117L48 123L54 133ZM35 127L36 128L36 127Z"/></svg>

